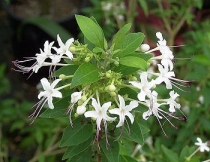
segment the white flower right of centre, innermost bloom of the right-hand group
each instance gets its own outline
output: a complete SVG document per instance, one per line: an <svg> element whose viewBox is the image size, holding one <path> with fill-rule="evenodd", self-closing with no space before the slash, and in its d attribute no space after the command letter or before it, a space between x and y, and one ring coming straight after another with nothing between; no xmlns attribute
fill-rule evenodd
<svg viewBox="0 0 210 162"><path fill-rule="evenodd" d="M131 83L134 87L139 88L141 91L140 93L138 93L138 99L140 101L145 101L145 97L148 96L151 93L151 88L154 86L154 82L148 82L147 80L147 72L143 72L140 74L140 79L141 82L135 82L135 81L130 81L129 83Z"/></svg>

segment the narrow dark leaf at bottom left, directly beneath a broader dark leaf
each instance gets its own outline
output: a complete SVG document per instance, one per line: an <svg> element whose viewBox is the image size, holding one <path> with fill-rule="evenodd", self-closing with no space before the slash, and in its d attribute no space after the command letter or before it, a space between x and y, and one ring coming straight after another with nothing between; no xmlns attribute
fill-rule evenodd
<svg viewBox="0 0 210 162"><path fill-rule="evenodd" d="M62 160L71 159L72 157L84 152L92 143L92 137L89 138L87 141L77 145L77 146L70 146L66 150L65 154L62 157Z"/></svg>

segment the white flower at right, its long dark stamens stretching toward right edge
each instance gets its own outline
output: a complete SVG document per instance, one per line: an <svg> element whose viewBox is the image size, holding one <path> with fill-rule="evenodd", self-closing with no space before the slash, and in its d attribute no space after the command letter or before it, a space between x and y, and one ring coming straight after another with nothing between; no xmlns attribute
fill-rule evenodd
<svg viewBox="0 0 210 162"><path fill-rule="evenodd" d="M156 84L161 84L165 82L167 89L172 89L172 83L170 81L171 77L175 77L175 73L173 71L169 71L168 67L165 66L163 68L162 65L158 64L159 76L155 79Z"/></svg>

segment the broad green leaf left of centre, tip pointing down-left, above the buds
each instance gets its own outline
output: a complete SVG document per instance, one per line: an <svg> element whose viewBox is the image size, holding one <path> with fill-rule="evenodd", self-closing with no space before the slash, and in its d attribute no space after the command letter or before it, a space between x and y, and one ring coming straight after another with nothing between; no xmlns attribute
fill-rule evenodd
<svg viewBox="0 0 210 162"><path fill-rule="evenodd" d="M99 70L91 63L83 63L74 73L71 88L82 84L94 83L99 80Z"/></svg>

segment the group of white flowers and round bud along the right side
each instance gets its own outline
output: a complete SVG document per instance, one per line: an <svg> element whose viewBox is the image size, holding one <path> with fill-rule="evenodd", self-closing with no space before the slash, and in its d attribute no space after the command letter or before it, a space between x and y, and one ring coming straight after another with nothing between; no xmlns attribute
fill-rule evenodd
<svg viewBox="0 0 210 162"><path fill-rule="evenodd" d="M150 61L155 61L155 63L157 60L160 60L160 63L157 64L158 72L154 72L151 70L141 72L140 81L130 81L129 83L140 90L137 98L139 101L145 103L145 105L149 108L148 111L143 113L143 119L147 120L151 115L154 115L159 123L159 119L165 118L172 126L174 126L167 118L168 116L180 120L185 120L185 116L176 117L173 115L176 110L180 110L181 105L176 102L179 94L171 89L173 88L173 86L175 86L176 88L182 90L180 86L187 87L190 81L175 78L175 73L173 71L173 52L167 46L167 42L165 39L163 39L163 36L160 32L156 33L156 37L159 39L156 48L149 50L149 45L142 44L141 50L145 53L151 53L156 50L160 51L160 55L152 57L150 59ZM148 79L150 80L148 81ZM155 87L162 83L165 84L166 89L171 90L169 92L170 97L167 99L158 99L158 92L155 91ZM162 105L168 105L168 111L164 111L163 109L161 109L160 107Z"/></svg>

